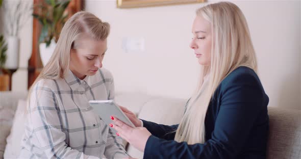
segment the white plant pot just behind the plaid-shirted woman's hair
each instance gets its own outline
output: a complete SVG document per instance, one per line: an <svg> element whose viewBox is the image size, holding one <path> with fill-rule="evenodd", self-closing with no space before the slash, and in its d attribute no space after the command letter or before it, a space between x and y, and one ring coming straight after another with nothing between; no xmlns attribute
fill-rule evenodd
<svg viewBox="0 0 301 159"><path fill-rule="evenodd" d="M46 43L40 43L39 48L40 48L40 56L42 60L43 66L47 64L49 59L51 58L55 48L56 48L56 42L54 39L51 40L51 43L48 47L46 47Z"/></svg>

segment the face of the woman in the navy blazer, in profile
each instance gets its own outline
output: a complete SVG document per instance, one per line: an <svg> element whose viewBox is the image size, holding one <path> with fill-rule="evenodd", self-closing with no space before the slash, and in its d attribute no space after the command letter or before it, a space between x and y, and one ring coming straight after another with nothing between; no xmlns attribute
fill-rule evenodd
<svg viewBox="0 0 301 159"><path fill-rule="evenodd" d="M192 34L190 47L194 49L198 63L200 65L210 65L212 43L210 22L202 16L196 16L192 24Z"/></svg>

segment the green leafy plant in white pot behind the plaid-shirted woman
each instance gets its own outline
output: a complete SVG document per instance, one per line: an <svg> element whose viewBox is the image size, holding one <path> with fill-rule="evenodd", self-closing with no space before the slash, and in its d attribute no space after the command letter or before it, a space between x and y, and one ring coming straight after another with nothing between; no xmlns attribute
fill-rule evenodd
<svg viewBox="0 0 301 159"><path fill-rule="evenodd" d="M40 56L43 65L51 58L56 43L64 23L67 20L68 13L66 8L70 1L45 0L40 1L34 8L39 11L34 13L34 18L42 24L41 35L39 37Z"/></svg>

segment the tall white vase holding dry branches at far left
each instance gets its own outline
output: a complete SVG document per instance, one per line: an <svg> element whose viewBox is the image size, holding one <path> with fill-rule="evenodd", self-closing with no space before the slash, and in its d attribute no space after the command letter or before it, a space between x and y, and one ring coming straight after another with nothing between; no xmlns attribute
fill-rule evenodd
<svg viewBox="0 0 301 159"><path fill-rule="evenodd" d="M17 69L19 64L19 47L20 39L16 36L8 36L7 41L7 59L5 62L5 68Z"/></svg>

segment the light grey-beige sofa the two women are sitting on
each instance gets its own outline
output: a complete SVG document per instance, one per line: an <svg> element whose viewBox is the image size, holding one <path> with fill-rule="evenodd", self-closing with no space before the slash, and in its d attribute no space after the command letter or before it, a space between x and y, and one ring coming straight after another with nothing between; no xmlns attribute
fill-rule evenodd
<svg viewBox="0 0 301 159"><path fill-rule="evenodd" d="M26 92L0 92L0 109L15 110L18 99L24 99L26 95ZM135 92L117 93L116 101L135 112L139 118L162 124L179 123L184 111L183 105L186 102L185 99L150 96ZM170 113L171 109L173 113ZM268 158L301 158L301 111L268 107L268 114L270 120ZM7 135L2 138L6 137ZM19 145L18 142L13 144L16 147ZM127 150L133 157L142 158L143 156L142 152L131 145L127 145ZM0 147L1 151L4 151L3 147Z"/></svg>

